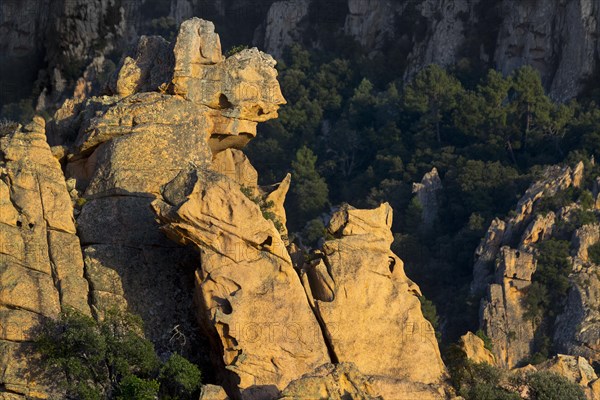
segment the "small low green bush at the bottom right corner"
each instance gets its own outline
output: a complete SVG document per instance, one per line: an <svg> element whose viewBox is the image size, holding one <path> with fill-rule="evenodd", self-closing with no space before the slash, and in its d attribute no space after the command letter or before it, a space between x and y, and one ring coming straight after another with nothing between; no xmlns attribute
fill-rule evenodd
<svg viewBox="0 0 600 400"><path fill-rule="evenodd" d="M536 400L585 400L583 389L567 378L550 372L535 372L527 377L532 398Z"/></svg>

